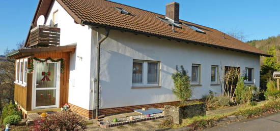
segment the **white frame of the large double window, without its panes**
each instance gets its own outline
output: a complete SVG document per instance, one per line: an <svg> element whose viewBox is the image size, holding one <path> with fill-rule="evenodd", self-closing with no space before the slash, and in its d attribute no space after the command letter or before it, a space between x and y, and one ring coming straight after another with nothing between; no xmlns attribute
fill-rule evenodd
<svg viewBox="0 0 280 131"><path fill-rule="evenodd" d="M160 76L160 71L159 71L159 61L145 61L145 60L133 60L133 63L143 63L143 69L142 69L142 83L133 83L132 82L132 87L138 87L138 86L159 86L159 76ZM132 66L133 66L132 63ZM156 63L157 64L157 82L156 83L148 83L148 63ZM132 76L133 77L133 76Z"/></svg>

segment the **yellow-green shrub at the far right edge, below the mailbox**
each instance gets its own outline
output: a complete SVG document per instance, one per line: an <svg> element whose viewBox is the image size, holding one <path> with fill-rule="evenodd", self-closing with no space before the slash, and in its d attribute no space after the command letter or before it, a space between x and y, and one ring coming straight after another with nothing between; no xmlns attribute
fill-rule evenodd
<svg viewBox="0 0 280 131"><path fill-rule="evenodd" d="M274 100L280 98L280 91L277 90L276 81L268 80L266 84L267 90L265 93L266 99Z"/></svg>

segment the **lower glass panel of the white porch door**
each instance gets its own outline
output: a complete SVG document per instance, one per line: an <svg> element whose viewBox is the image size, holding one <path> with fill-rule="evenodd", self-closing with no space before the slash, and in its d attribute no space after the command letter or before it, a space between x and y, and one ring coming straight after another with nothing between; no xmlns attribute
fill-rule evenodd
<svg viewBox="0 0 280 131"><path fill-rule="evenodd" d="M55 90L37 90L36 106L55 105Z"/></svg>

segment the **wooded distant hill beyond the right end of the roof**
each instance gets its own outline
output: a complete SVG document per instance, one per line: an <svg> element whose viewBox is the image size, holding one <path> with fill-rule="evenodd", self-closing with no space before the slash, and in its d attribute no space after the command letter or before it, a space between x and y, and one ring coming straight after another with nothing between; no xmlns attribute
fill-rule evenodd
<svg viewBox="0 0 280 131"><path fill-rule="evenodd" d="M274 45L277 50L276 54L277 54L278 62L280 62L280 34L278 36L268 37L267 39L250 40L247 41L246 43L258 49L261 49L265 52L267 52L268 49L270 49ZM261 57L261 64L263 62L263 59L264 57Z"/></svg>

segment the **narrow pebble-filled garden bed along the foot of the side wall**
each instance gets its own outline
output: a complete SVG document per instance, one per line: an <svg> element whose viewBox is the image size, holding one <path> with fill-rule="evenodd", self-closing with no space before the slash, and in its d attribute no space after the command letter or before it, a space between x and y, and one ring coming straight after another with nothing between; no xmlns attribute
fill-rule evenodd
<svg viewBox="0 0 280 131"><path fill-rule="evenodd" d="M146 115L135 115L132 117L133 117L133 120L130 120L129 117L118 118L118 122L114 122L113 119L109 119L109 120L100 119L100 120L97 120L97 123L99 124L100 127L107 128L107 127L119 126L119 125L124 125L124 124L129 124L129 123L136 123L136 122L141 122L141 121L146 121L146 120L159 119L159 118L163 118L164 115L162 113L157 113L157 114L151 114L150 117L147 117Z"/></svg>

